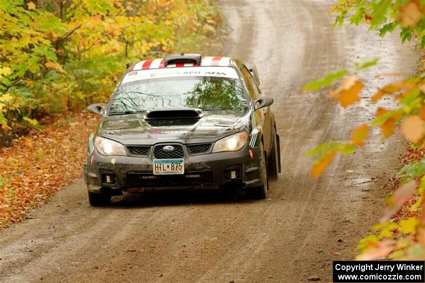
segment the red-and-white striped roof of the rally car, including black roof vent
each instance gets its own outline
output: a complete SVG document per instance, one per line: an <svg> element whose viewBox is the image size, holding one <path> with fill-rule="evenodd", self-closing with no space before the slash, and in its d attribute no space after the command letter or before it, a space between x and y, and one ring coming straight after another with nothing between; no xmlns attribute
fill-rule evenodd
<svg viewBox="0 0 425 283"><path fill-rule="evenodd" d="M183 56L183 55L182 55ZM200 56L200 55L199 55ZM129 70L138 71L146 69L160 69L160 68L175 68L175 67L192 67L192 66L221 66L230 67L231 57L224 56L200 56L200 64L194 60L187 60L184 57L181 60L173 60L164 65L164 58L141 60L133 64Z"/></svg>

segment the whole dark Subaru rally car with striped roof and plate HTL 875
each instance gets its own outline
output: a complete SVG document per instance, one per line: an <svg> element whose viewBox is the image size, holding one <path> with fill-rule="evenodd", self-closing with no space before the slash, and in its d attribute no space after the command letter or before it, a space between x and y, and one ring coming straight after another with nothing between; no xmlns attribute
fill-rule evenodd
<svg viewBox="0 0 425 283"><path fill-rule="evenodd" d="M125 192L245 191L264 199L280 172L271 97L255 65L233 57L175 54L130 66L88 139L91 206Z"/></svg>

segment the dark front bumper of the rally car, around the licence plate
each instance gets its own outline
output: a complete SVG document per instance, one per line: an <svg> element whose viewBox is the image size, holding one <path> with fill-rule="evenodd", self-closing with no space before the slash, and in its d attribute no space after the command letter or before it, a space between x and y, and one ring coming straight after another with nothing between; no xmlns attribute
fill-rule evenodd
<svg viewBox="0 0 425 283"><path fill-rule="evenodd" d="M248 145L235 152L186 153L183 175L153 175L150 157L103 156L94 149L87 152L84 179L91 192L219 189L229 185L249 188L261 185L260 158L260 149ZM229 171L233 170L238 173L231 179ZM106 182L106 175L115 176L109 180L113 183Z"/></svg>

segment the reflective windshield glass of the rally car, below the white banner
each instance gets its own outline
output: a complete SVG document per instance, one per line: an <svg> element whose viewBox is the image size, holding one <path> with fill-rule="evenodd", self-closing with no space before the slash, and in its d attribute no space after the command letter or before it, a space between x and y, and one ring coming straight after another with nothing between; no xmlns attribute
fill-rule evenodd
<svg viewBox="0 0 425 283"><path fill-rule="evenodd" d="M109 113L164 108L241 111L247 109L247 102L239 79L178 76L122 83L111 101Z"/></svg>

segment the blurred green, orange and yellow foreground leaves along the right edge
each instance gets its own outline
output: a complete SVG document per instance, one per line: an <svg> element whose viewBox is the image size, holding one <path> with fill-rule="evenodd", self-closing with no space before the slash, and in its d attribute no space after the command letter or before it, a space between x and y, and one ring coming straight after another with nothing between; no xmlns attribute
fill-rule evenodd
<svg viewBox="0 0 425 283"><path fill-rule="evenodd" d="M410 41L412 37L419 40L422 48L425 45L425 1L416 0L338 0L329 15L337 11L333 27L342 25L347 19L350 24L358 25L365 22L370 29L379 31L380 36L400 28L400 39ZM360 92L365 83L359 78L358 72L373 66L377 59L355 64L354 70L339 70L320 79L309 82L304 91L318 90L329 87L339 81L337 88L329 90L329 97L343 108L360 101ZM423 70L423 69L422 69ZM400 76L395 74L380 74L381 76ZM390 96L396 101L394 109L377 108L370 125L362 124L351 133L348 142L330 142L317 146L307 152L308 156L319 155L312 165L311 176L317 178L339 152L351 154L356 147L363 146L368 137L369 127L379 127L382 138L390 137L397 127L401 134L411 142L412 149L425 147L425 73L421 72L406 79L393 81L380 88L370 98L372 103L379 103L384 96ZM425 259L425 157L404 166L397 174L400 178L399 188L388 198L381 224L373 229L375 233L363 238L358 249L361 251L357 259L375 260L389 258L394 260ZM414 217L389 221L411 198L409 210Z"/></svg>

